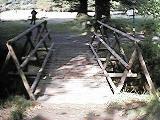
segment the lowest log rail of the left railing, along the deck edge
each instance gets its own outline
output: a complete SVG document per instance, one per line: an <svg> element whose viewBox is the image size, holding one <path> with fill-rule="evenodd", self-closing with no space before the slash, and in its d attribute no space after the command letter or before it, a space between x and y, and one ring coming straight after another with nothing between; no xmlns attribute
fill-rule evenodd
<svg viewBox="0 0 160 120"><path fill-rule="evenodd" d="M48 61L48 59L49 59L49 57L50 57L50 55L51 55L51 53L52 53L52 48L53 48L53 46L54 46L54 43L51 44L51 47L50 47L50 49L49 49L49 52L48 52L46 58L44 59L44 62L43 62L43 64L42 64L42 67L41 67L40 70L38 71L38 74L37 74L37 76L36 76L36 78L35 78L32 86L31 86L31 89L32 89L32 92L33 92L33 93L34 93L35 90L36 90L36 87L37 87L37 85L38 85L38 83L39 83L39 80L40 80L40 77L41 77L41 75L42 75L42 72L43 72L43 70L44 70L44 67L45 67L45 65L46 65L46 63L47 63L47 61Z"/></svg>

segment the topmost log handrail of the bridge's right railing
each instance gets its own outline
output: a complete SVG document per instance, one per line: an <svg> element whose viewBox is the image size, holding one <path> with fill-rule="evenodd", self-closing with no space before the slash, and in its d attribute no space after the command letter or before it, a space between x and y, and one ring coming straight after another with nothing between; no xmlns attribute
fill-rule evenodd
<svg viewBox="0 0 160 120"><path fill-rule="evenodd" d="M134 37L128 35L127 33L125 33L125 32L122 32L122 31L120 31L120 30L118 30L118 29L116 29L116 28L113 28L113 27L111 27L111 26L109 26L109 25L107 25L107 24L104 24L104 23L102 23L101 21L97 21L97 22L98 22L99 24L107 27L108 29L114 31L114 32L121 34L122 36L125 36L125 37L129 38L131 41L140 42L139 39L134 38Z"/></svg>

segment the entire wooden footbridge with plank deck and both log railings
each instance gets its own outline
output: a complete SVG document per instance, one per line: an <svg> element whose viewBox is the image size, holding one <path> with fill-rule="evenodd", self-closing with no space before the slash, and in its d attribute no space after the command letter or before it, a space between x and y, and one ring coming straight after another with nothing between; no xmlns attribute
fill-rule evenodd
<svg viewBox="0 0 160 120"><path fill-rule="evenodd" d="M108 95L121 92L127 77L137 77L137 73L132 72L133 62L137 57L150 93L155 94L138 46L140 40L100 21L98 23L99 31L94 33L93 38L53 34L47 29L47 21L29 28L6 43L8 55L1 73L5 72L12 59L18 73L8 74L20 75L32 100L104 103ZM110 38L107 32L112 32L113 36ZM120 38L126 40L120 41ZM130 58L121 46L126 41L133 44ZM23 48L21 52L17 50L19 45ZM119 64L122 72L116 70ZM36 75L33 74L33 68L32 73L29 73L32 65L41 65ZM119 80L114 81L113 78Z"/></svg>

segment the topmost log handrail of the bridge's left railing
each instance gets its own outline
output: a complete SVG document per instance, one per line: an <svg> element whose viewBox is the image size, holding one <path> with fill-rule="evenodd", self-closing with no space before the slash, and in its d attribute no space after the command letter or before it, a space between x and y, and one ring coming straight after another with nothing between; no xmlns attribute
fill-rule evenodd
<svg viewBox="0 0 160 120"><path fill-rule="evenodd" d="M41 23L38 23L37 25L32 26L31 28L29 28L29 29L25 30L24 32L20 33L19 35L17 35L16 37L8 40L8 43L10 44L10 43L12 43L12 42L15 42L15 41L19 40L19 39L22 38L24 35L26 35L26 34L29 33L30 31L32 31L33 29L37 28L37 27L38 27L39 25L41 25L41 24L45 24L46 22L47 22L47 21L43 21L43 22L41 22Z"/></svg>

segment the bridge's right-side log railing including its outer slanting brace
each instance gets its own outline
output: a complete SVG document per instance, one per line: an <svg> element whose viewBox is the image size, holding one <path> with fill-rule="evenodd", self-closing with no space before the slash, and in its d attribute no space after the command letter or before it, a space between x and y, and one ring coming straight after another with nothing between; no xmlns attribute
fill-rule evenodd
<svg viewBox="0 0 160 120"><path fill-rule="evenodd" d="M133 68L133 66L134 66L133 63L135 60L138 60L140 63L140 67L142 68L142 71L143 71L143 73L146 77L146 80L148 82L148 85L150 87L150 90L149 90L150 93L153 95L156 95L156 90L155 90L154 84L153 84L152 79L149 75L149 72L147 70L145 61L143 59L140 47L138 45L140 40L137 38L134 38L131 35L128 35L127 33L122 32L114 27L111 27L101 21L97 21L97 22L100 24L100 26L99 26L100 35L98 35L96 32L93 32L94 35L93 35L93 38L92 38L89 45L90 45L90 48L91 48L93 54L96 57L98 64L100 65L100 67L106 77L107 82L109 83L111 91L113 93L119 93L122 90L124 83L126 81L126 78L128 77L127 74L130 72L132 73L131 68ZM112 45L107 44L107 40L109 41L109 39L108 39L109 36L107 36L107 37L104 36L104 31L102 29L103 27L106 27L107 29L111 30L114 33L113 34L114 38L115 38L115 41L113 41L114 44L112 44ZM123 47L120 44L120 42L123 42L123 41L119 41L117 34L128 38L132 42L132 44L134 44L134 51L133 51L132 55L130 56L129 62L126 62L126 60L124 60L126 55L124 53ZM95 41L95 43L94 43L94 41ZM96 45L94 45L94 44L96 44ZM116 50L116 45L118 46L118 50ZM117 76L110 76L111 71L107 71L108 60L103 61L105 63L102 63L102 61L100 59L100 55L98 54L100 47L102 47L102 46L107 48L107 50L105 49L103 52L107 53L106 57L110 56L109 61L113 62L113 64L121 63L121 65L122 65L121 68L123 70L123 73L121 73L120 82L118 83L118 87L115 87L114 82L112 81L112 78L117 77ZM111 59L111 56L112 56L111 54L116 58L117 61L113 61ZM121 58L121 55L123 55L124 59ZM136 58L138 58L138 59L136 59ZM114 66L112 66L112 68L114 68ZM113 72L115 72L115 74L119 74L119 73L117 73L117 71L113 71Z"/></svg>

